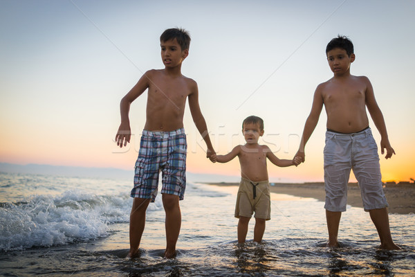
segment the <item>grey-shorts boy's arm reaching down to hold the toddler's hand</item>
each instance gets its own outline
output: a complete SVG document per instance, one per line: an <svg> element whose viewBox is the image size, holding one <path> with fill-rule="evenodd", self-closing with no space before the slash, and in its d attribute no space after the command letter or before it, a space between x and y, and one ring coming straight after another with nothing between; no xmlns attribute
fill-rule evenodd
<svg viewBox="0 0 415 277"><path fill-rule="evenodd" d="M304 125L304 131L303 131L301 140L299 141L299 149L297 151L297 154L295 154L295 158L300 157L303 163L304 161L306 161L306 155L304 154L306 143L308 139L310 139L311 134L313 134L315 126L317 126L318 118L320 118L322 109L323 109L322 84L319 84L317 86L317 89L315 89L315 92L314 92L313 105L311 105L310 114L308 115L308 118L306 119L306 124Z"/></svg>

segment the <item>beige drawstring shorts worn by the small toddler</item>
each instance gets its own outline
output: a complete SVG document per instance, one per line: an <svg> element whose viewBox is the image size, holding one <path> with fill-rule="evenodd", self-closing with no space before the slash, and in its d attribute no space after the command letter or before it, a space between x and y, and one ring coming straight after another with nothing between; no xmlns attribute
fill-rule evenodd
<svg viewBox="0 0 415 277"><path fill-rule="evenodd" d="M255 218L271 219L270 183L269 181L251 182L242 177L239 183L235 217L252 217L254 212Z"/></svg>

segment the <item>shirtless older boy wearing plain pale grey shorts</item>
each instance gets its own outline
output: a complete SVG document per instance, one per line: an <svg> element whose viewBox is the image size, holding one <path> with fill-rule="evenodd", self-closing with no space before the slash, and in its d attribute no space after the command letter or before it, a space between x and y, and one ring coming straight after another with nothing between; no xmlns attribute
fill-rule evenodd
<svg viewBox="0 0 415 277"><path fill-rule="evenodd" d="M385 120L376 103L374 90L365 76L350 74L355 60L353 44L338 36L326 47L326 56L333 78L317 86L311 112L304 125L296 157L305 161L304 147L310 138L324 105L327 114L326 146L324 148L324 182L326 190L326 220L329 231L328 247L338 247L340 217L346 211L347 183L350 170L358 179L365 211L378 230L380 247L399 249L389 229L387 201L382 189L378 147L369 128L366 108L382 139L382 154L386 159L395 154L389 143Z"/></svg>

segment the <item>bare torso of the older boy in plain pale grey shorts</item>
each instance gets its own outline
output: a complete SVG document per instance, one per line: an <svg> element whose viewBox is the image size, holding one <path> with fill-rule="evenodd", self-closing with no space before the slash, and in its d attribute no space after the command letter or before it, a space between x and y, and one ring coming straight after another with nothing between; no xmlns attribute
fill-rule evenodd
<svg viewBox="0 0 415 277"><path fill-rule="evenodd" d="M328 129L359 132L369 126L366 113L367 78L349 75L331 78L319 85L327 114Z"/></svg>

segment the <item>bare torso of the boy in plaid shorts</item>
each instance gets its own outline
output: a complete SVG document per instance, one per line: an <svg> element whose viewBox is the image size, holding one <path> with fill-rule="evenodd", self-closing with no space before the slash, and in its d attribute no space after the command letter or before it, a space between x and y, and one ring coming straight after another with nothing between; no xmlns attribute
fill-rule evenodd
<svg viewBox="0 0 415 277"><path fill-rule="evenodd" d="M147 72L149 88L146 123L149 131L173 131L183 127L187 96L196 82L183 75L167 75L164 69Z"/></svg>

